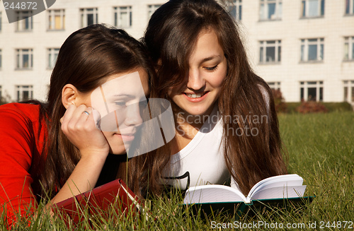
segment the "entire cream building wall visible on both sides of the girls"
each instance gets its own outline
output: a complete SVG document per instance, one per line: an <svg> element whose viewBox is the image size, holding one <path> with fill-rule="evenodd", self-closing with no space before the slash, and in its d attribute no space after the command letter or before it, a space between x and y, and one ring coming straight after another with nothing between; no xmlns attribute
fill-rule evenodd
<svg viewBox="0 0 354 231"><path fill-rule="evenodd" d="M316 81L319 84L321 81L322 100L325 102L344 100L344 81L353 81L354 88L354 61L343 61L344 37L354 37L354 15L346 15L346 1L348 0L325 0L324 16L302 18L302 0L282 0L282 14L278 20L260 20L260 0L241 1L242 18L239 20L239 28L251 66L268 83L280 83L280 90L286 101L300 100L301 82ZM4 5L0 4L2 96L8 94L12 100L16 100L16 85L33 85L33 98L45 100L52 71L47 67L47 49L59 48L72 32L81 28L80 8L98 8L98 23L114 25L113 7L132 6L132 26L125 30L139 38L142 37L149 19L148 5L164 2L166 1L60 0L49 10L64 9L64 30L47 30L49 16L48 11L45 11L33 16L33 30L30 32L16 31L16 23L8 23ZM323 60L300 61L301 40L312 38L324 39ZM260 63L260 41L267 40L281 41L279 62ZM33 49L33 68L16 70L15 50L26 48Z"/></svg>

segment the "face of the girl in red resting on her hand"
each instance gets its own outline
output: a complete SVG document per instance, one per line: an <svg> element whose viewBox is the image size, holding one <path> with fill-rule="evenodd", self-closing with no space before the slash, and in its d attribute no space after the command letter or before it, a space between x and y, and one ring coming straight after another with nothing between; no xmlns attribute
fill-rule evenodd
<svg viewBox="0 0 354 231"><path fill-rule="evenodd" d="M148 81L147 72L139 68L109 76L100 87L87 93L85 105L100 113L98 123L108 141L110 153L120 155L130 148L143 122L140 107L147 102Z"/></svg>

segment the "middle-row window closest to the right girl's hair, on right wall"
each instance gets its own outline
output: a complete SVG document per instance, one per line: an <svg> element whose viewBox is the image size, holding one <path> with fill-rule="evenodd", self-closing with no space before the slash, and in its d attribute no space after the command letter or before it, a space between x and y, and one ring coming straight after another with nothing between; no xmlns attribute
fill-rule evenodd
<svg viewBox="0 0 354 231"><path fill-rule="evenodd" d="M274 43L271 43L274 42ZM268 61L267 48L274 47L274 61ZM280 64L281 62L281 40L261 40L259 41L259 64Z"/></svg>

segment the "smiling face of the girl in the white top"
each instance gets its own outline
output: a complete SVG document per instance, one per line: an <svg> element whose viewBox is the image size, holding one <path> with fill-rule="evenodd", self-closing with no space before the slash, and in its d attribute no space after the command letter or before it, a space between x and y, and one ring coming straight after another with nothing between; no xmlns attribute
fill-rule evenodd
<svg viewBox="0 0 354 231"><path fill-rule="evenodd" d="M189 59L185 81L169 89L169 97L187 115L212 112L227 75L227 59L214 30L202 30Z"/></svg>

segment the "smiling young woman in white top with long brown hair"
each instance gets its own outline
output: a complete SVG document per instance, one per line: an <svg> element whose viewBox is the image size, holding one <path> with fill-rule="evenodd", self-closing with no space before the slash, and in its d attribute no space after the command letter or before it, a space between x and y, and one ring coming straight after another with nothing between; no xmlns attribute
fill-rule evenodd
<svg viewBox="0 0 354 231"><path fill-rule="evenodd" d="M171 0L144 42L157 71L151 97L171 101L176 136L142 156L143 191L232 184L244 194L286 174L268 85L249 66L237 25L214 0Z"/></svg>

